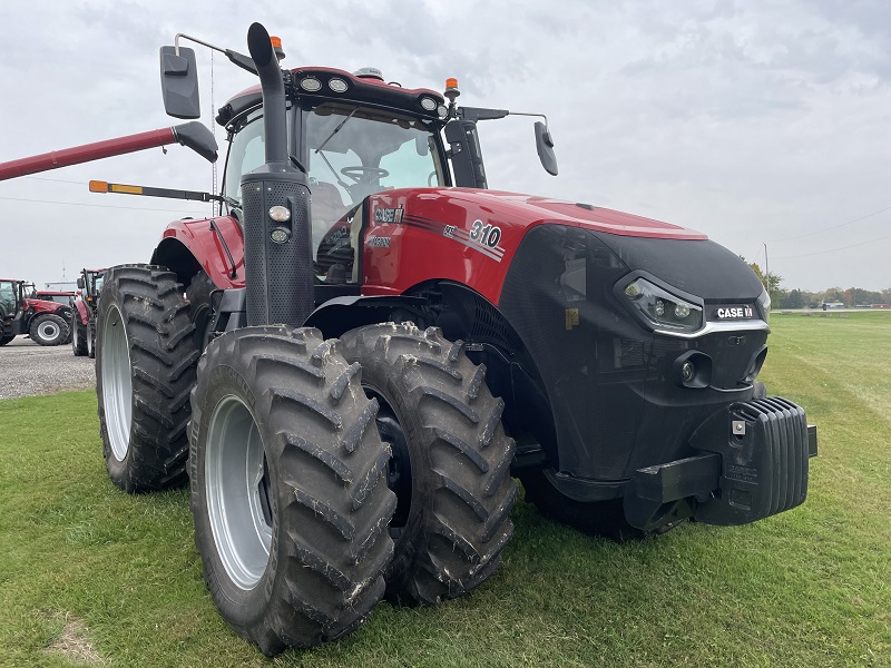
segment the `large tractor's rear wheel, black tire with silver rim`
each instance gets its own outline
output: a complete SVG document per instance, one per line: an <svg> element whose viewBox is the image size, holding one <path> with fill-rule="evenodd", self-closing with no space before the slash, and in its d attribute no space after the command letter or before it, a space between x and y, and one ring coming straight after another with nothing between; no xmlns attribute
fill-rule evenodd
<svg viewBox="0 0 891 668"><path fill-rule="evenodd" d="M187 481L199 356L193 331L176 274L151 265L106 272L96 338L99 433L108 474L127 492Z"/></svg>

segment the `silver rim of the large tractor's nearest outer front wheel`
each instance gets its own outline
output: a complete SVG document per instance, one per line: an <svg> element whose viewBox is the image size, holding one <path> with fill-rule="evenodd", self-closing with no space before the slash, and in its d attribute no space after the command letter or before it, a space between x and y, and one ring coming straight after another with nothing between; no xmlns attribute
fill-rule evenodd
<svg viewBox="0 0 891 668"><path fill-rule="evenodd" d="M225 396L214 409L204 465L217 553L232 581L253 589L272 546L268 469L254 416L236 396Z"/></svg>

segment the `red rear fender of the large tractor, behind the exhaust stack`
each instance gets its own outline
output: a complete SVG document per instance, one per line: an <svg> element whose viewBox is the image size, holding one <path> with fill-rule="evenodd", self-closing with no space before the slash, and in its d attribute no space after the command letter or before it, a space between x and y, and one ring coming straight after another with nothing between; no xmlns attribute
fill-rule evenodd
<svg viewBox="0 0 891 668"><path fill-rule="evenodd" d="M150 262L183 285L203 269L221 289L244 287L244 236L232 216L170 223Z"/></svg>

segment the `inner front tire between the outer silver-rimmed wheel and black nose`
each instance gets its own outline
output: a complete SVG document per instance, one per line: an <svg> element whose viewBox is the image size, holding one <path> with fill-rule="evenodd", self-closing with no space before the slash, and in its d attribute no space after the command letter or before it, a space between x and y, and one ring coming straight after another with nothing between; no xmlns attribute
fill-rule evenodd
<svg viewBox="0 0 891 668"><path fill-rule="evenodd" d="M501 425L505 402L486 386L486 367L437 328L371 325L341 342L346 360L362 365L393 449L399 505L388 599L433 605L470 591L495 572L513 533L516 445Z"/></svg>

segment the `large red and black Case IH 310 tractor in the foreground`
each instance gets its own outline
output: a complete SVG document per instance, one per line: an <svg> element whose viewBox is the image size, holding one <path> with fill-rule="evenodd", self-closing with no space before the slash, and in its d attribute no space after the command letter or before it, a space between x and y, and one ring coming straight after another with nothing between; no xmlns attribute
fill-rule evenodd
<svg viewBox="0 0 891 668"><path fill-rule="evenodd" d="M197 118L180 38L161 49L165 104ZM375 70L283 71L262 26L247 39L249 58L218 49L261 81L217 116L222 195L91 184L226 207L106 272L96 365L112 481L189 483L239 633L274 655L355 629L384 596L473 589L511 537L515 477L542 512L616 538L804 501L816 432L756 381L768 301L736 255L487 189L477 122L509 112L459 107L454 81L443 97ZM214 156L190 125L141 147L183 128ZM536 138L556 173L544 124Z"/></svg>

